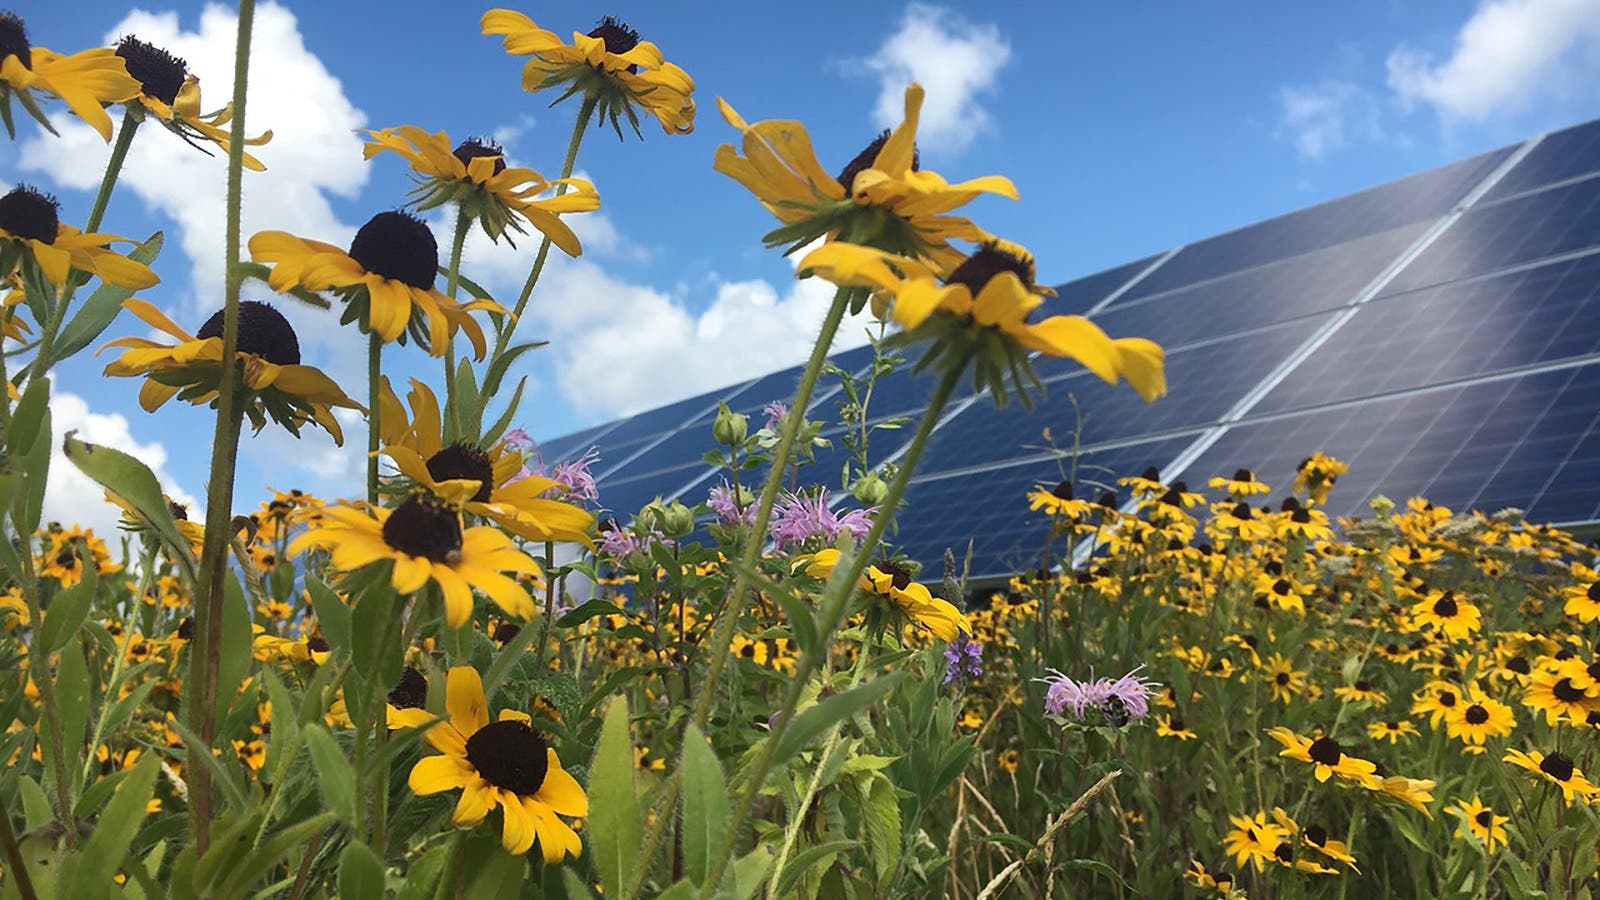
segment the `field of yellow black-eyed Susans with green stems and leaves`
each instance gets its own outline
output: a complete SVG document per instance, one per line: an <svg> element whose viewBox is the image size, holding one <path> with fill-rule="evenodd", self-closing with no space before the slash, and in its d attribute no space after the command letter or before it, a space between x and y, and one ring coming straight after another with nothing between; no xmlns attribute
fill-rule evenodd
<svg viewBox="0 0 1600 900"><path fill-rule="evenodd" d="M896 516L939 514L901 496L962 383L1029 402L1045 354L1166 388L1160 346L1051 314L1027 250L962 215L1011 181L918 167L918 85L842 167L800 123L717 101L734 143L715 170L837 293L797 394L704 436L717 487L610 509L592 455L546 468L514 428L515 327L552 247L582 251L563 216L600 207L571 176L586 135L693 130L693 78L613 18L557 32L490 10L522 86L578 104L560 175L427 130L448 122L381 128L366 155L406 160L403 210L350 247L246 235L270 123L245 125L251 0L238 13L213 112L138 35L64 54L0 14L8 131L74 115L110 146L82 229L29 186L0 197L5 897L1600 890L1600 575L1571 535L1424 498L1330 522L1344 464L1322 455L1291 496L1250 469L1102 484L1062 455L1058 484L997 498L1048 516L1037 570L979 589L960 548L896 552ZM158 296L160 235L101 231L158 130L227 157L227 290L198 325L136 296ZM414 215L437 208L443 251ZM518 296L462 272L472 229L536 239ZM363 384L302 365L277 309L301 303L368 336ZM899 365L933 389L898 464L869 464L861 428L840 482L808 464L835 423L808 416L830 416L811 405L838 378L827 351L869 307L885 331L848 394ZM118 319L149 330L102 343ZM123 533L42 520L50 375L91 348L150 415L216 412L203 514L69 434ZM394 354L440 378L390 383ZM342 440L334 408L366 420L365 485L235 509L245 423Z"/></svg>

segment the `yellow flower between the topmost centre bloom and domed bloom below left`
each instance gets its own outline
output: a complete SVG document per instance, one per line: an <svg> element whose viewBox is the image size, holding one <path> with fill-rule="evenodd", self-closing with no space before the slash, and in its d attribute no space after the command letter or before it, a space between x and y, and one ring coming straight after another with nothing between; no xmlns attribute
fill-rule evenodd
<svg viewBox="0 0 1600 900"><path fill-rule="evenodd" d="M450 135L429 135L414 125L366 135L366 159L390 151L411 165L418 181L411 203L418 210L459 203L461 215L477 221L493 240L507 231L526 234L525 226L531 224L568 256L584 251L562 213L598 210L594 184L581 178L547 181L531 168L507 167L499 144L482 138L451 146Z"/></svg>

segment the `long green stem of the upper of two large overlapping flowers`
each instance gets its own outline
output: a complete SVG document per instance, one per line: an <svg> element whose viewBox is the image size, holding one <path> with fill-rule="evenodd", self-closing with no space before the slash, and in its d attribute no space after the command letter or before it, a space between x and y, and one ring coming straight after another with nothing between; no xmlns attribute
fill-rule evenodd
<svg viewBox="0 0 1600 900"><path fill-rule="evenodd" d="M744 615L746 594L750 588L750 580L746 573L755 569L755 564L762 556L766 525L771 520L773 506L778 503L778 490L784 482L784 468L789 464L795 437L800 434L800 423L805 420L806 407L811 405L811 392L816 391L818 378L822 375L822 364L827 362L827 351L834 346L834 335L838 333L838 323L845 319L845 309L850 306L851 293L851 288L838 288L834 291L834 303L829 306L827 317L822 320L822 330L816 336L816 344L811 346L811 359L806 360L805 373L800 376L800 388L795 391L794 405L789 408L789 416L784 418L782 432L778 436L778 445L773 448L773 460L766 472L766 487L762 488L762 498L755 506L755 520L750 524L750 536L744 546L744 557L739 560L738 575L733 581L733 593L730 594L728 602L723 604L725 609L715 617L717 626L712 633L712 650L709 655L710 668L706 671L706 687L701 690L699 700L694 703L694 724L701 729L704 729L706 722L710 721L710 706L717 698L717 681L722 677L723 665L728 660L728 649L733 647L733 633L738 626L739 617ZM680 788L682 773L674 772L672 778L666 785L666 790L661 793L661 799L656 801L656 818L645 831L645 844L643 852L638 857L638 870L629 881L622 897L637 897L638 890L643 887L645 874L650 871L650 860L654 858L656 849L661 846L662 838L666 838L667 826L672 822L672 804L678 801Z"/></svg>

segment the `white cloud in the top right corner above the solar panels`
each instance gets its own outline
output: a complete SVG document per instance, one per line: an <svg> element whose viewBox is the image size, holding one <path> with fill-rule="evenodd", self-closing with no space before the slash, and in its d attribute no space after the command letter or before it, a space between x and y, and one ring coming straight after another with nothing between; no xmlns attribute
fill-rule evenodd
<svg viewBox="0 0 1600 900"><path fill-rule="evenodd" d="M1483 0L1448 59L1402 45L1387 69L1403 109L1432 106L1446 123L1486 122L1582 85L1592 91L1600 0Z"/></svg>

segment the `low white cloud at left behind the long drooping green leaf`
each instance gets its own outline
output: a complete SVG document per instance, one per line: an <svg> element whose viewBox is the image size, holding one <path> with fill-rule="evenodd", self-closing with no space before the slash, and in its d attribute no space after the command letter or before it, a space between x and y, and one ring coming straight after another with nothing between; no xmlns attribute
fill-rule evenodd
<svg viewBox="0 0 1600 900"><path fill-rule="evenodd" d="M194 495L186 492L166 471L166 447L160 440L141 444L133 436L125 416L91 412L88 400L66 391L51 391L50 416L51 448L50 480L45 485L45 522L85 525L94 528L94 533L106 538L107 544L115 544L117 520L122 517L122 511L106 501L106 488L78 471L61 452L61 439L69 431L77 431L80 440L114 447L136 456L155 472L168 496L178 503L190 504L190 517L198 520L203 516Z"/></svg>

